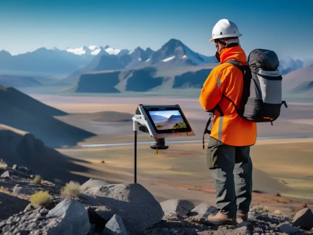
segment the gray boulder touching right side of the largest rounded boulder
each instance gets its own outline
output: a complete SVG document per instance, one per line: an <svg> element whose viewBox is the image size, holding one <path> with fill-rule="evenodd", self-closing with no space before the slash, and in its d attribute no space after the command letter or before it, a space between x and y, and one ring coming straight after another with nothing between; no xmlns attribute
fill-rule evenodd
<svg viewBox="0 0 313 235"><path fill-rule="evenodd" d="M164 216L179 215L186 216L195 205L191 201L170 199L160 203Z"/></svg>

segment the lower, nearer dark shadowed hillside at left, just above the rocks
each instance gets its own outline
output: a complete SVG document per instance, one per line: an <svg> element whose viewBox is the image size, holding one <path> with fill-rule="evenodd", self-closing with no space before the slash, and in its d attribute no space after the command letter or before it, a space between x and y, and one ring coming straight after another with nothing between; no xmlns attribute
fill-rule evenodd
<svg viewBox="0 0 313 235"><path fill-rule="evenodd" d="M77 173L97 171L79 165L84 160L70 158L55 149L44 146L44 143L32 134L19 135L12 131L0 131L0 156L12 167L14 164L26 166L33 174L42 175L48 180L59 179L63 182L75 180L84 183L89 178ZM52 181L53 182L53 181Z"/></svg>

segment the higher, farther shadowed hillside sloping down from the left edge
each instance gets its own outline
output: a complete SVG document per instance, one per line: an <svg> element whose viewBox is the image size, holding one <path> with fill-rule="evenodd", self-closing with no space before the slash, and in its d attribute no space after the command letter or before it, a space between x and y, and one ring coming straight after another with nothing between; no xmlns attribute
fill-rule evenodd
<svg viewBox="0 0 313 235"><path fill-rule="evenodd" d="M66 112L45 105L14 89L0 86L0 123L32 133L52 148L75 146L94 133L71 126L54 116Z"/></svg>

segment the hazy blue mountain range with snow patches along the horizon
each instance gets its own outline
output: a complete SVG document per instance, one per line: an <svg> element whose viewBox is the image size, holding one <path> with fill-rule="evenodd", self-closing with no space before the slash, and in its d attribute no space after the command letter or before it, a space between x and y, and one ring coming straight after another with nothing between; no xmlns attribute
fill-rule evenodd
<svg viewBox="0 0 313 235"><path fill-rule="evenodd" d="M11 55L2 50L0 84L14 87L44 86L45 82L49 81L49 84L56 86L70 85L72 88L68 91L71 92L91 93L170 91L177 88L202 87L216 65L218 61L215 56L194 52L177 39L170 39L156 51L140 47L121 50L108 45L82 46L66 50L39 48L20 55ZM295 76L295 72L307 70L309 67L310 62L284 58L280 60L279 69L284 77L288 77ZM64 76L58 79L45 77L43 80L27 75L29 72ZM312 81L310 76L303 79L304 82ZM293 82L296 82L295 86L306 86L299 83L302 80ZM292 89L295 86L292 86Z"/></svg>

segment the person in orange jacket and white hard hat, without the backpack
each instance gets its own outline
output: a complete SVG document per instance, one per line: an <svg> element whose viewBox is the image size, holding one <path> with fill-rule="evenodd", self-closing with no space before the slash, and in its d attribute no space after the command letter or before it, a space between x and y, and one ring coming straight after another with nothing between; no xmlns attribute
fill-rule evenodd
<svg viewBox="0 0 313 235"><path fill-rule="evenodd" d="M251 203L250 146L256 141L256 123L244 120L236 112L234 105L239 105L243 92L243 73L226 62L236 60L247 65L240 36L236 24L227 19L215 24L210 42L215 43L216 58L221 64L211 71L199 97L203 109L214 115L207 150L219 209L215 216L208 216L208 222L214 225L236 224L237 218L247 221Z"/></svg>

